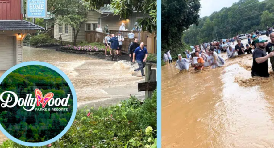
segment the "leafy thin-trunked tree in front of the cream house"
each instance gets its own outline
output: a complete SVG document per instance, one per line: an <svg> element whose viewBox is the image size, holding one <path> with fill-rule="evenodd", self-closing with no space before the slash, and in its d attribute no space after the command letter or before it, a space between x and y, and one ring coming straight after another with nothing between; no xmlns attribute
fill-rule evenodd
<svg viewBox="0 0 274 148"><path fill-rule="evenodd" d="M49 0L49 11L55 15L55 21L70 25L73 29L73 45L76 45L78 33L87 20L87 7L82 0Z"/></svg>

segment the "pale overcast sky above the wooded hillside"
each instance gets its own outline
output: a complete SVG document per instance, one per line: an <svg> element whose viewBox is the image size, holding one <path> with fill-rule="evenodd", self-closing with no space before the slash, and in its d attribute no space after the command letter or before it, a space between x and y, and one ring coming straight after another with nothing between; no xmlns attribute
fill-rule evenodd
<svg viewBox="0 0 274 148"><path fill-rule="evenodd" d="M261 2L262 0L260 0ZM200 17L209 16L214 11L220 11L223 7L230 7L238 0L201 0Z"/></svg>

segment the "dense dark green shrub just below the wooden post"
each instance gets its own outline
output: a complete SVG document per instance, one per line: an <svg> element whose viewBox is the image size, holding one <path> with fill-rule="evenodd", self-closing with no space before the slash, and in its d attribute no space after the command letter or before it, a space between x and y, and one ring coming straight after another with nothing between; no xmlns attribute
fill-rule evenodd
<svg viewBox="0 0 274 148"><path fill-rule="evenodd" d="M139 111L140 129L151 126L157 128L157 91L152 94L152 98L146 98Z"/></svg>

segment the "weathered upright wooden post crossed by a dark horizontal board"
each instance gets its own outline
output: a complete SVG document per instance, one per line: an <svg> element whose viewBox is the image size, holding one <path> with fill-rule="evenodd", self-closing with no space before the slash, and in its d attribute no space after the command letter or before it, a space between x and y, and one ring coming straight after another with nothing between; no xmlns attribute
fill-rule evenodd
<svg viewBox="0 0 274 148"><path fill-rule="evenodd" d="M151 69L152 64L146 64L145 67L145 82L156 81L156 69ZM153 91L145 91L145 98L151 98Z"/></svg>

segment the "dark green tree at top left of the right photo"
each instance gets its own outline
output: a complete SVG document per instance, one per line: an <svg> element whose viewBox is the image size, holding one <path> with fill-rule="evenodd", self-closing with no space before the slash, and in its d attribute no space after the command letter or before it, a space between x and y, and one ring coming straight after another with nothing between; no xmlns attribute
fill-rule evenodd
<svg viewBox="0 0 274 148"><path fill-rule="evenodd" d="M170 50L172 58L183 54L183 31L197 24L200 10L199 0L162 0L162 55Z"/></svg>

